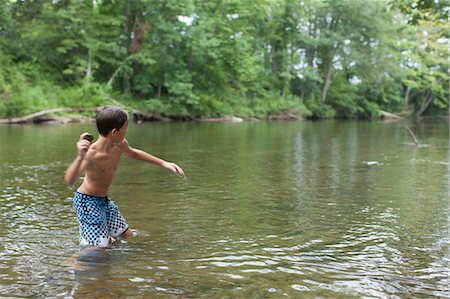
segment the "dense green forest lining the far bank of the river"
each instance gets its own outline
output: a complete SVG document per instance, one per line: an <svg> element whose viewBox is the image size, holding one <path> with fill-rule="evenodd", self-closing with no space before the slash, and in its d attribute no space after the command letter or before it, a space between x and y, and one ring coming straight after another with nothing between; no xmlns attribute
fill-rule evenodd
<svg viewBox="0 0 450 299"><path fill-rule="evenodd" d="M0 0L0 118L449 111L446 0Z"/></svg>

